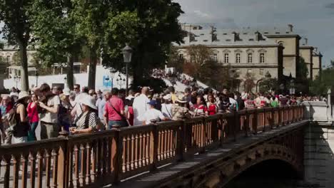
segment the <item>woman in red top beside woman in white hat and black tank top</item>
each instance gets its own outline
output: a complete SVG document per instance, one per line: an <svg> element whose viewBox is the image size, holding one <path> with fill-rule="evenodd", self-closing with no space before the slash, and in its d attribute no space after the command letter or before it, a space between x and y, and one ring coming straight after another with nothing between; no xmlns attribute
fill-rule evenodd
<svg viewBox="0 0 334 188"><path fill-rule="evenodd" d="M35 130L39 125L39 113L37 112L37 105L39 98L37 95L31 95L31 102L28 104L26 111L29 117L30 130L28 132L28 141L35 141L36 135Z"/></svg>

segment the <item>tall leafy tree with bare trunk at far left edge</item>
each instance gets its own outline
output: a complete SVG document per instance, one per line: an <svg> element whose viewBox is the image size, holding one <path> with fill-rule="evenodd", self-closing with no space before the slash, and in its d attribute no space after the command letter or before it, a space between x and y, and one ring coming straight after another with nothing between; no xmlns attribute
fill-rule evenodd
<svg viewBox="0 0 334 188"><path fill-rule="evenodd" d="M0 0L0 21L4 38L19 46L21 58L21 90L29 90L26 47L31 40L29 9L33 0Z"/></svg>

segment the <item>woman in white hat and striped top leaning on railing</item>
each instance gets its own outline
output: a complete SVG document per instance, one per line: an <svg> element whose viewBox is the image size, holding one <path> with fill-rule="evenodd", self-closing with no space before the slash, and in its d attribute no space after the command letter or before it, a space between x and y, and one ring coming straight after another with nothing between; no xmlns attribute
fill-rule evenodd
<svg viewBox="0 0 334 188"><path fill-rule="evenodd" d="M71 134L78 135L98 130L100 120L96 113L97 108L94 98L90 95L85 95L78 103L81 104L82 115L76 121L76 127L70 127Z"/></svg>

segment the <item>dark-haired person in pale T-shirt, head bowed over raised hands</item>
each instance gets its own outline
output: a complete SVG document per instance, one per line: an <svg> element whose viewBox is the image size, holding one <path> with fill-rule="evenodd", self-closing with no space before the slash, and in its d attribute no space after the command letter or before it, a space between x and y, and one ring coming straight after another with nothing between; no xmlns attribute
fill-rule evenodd
<svg viewBox="0 0 334 188"><path fill-rule="evenodd" d="M58 113L61 100L58 95L54 95L50 86L43 83L39 88L42 97L46 98L46 103L39 102L39 107L44 109L41 113L41 139L49 139L51 137L58 137L59 124Z"/></svg>

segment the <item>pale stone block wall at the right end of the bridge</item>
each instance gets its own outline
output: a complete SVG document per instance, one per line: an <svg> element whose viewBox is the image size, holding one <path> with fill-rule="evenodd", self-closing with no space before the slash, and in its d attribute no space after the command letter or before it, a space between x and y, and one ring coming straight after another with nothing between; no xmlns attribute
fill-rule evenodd
<svg viewBox="0 0 334 188"><path fill-rule="evenodd" d="M334 187L333 106L325 102L305 102L304 166L305 182L316 187Z"/></svg>

